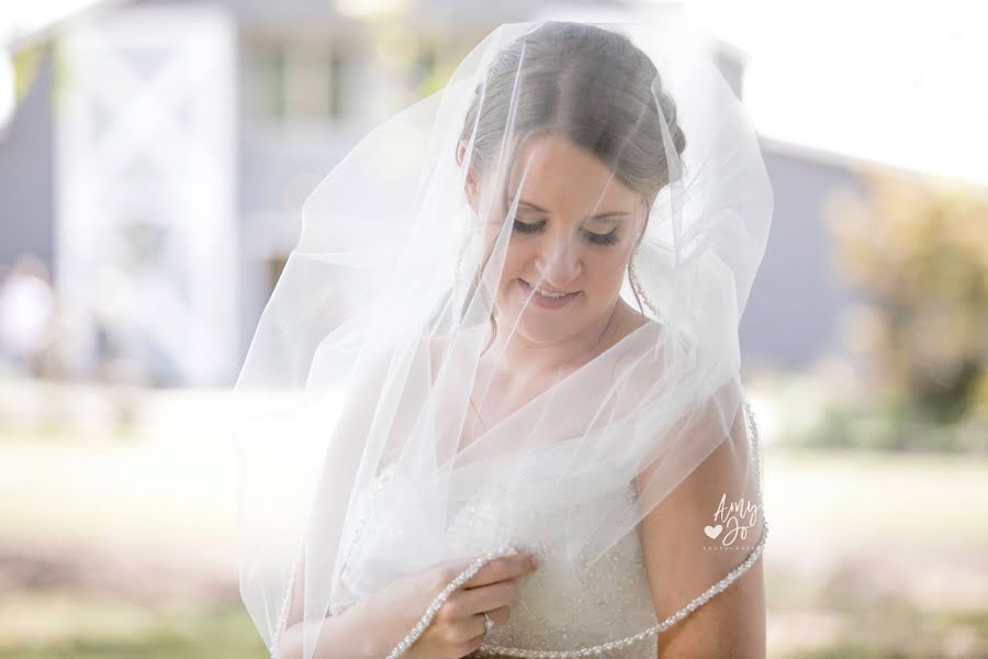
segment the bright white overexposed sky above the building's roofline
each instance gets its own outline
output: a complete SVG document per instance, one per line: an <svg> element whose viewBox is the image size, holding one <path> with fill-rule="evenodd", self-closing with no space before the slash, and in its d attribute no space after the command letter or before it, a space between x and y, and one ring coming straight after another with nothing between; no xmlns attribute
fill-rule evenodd
<svg viewBox="0 0 988 659"><path fill-rule="evenodd" d="M0 43L97 3L2 2ZM641 2L662 4L669 3ZM743 98L765 137L988 186L988 2L683 4L746 54ZM10 56L0 49L0 125L13 109L11 76Z"/></svg>

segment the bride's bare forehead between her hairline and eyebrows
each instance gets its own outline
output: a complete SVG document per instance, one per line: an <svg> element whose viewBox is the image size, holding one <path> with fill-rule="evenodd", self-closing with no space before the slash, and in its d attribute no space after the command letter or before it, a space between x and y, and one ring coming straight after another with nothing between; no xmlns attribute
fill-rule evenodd
<svg viewBox="0 0 988 659"><path fill-rule="evenodd" d="M557 134L534 137L521 145L509 179L509 202L523 176L521 199L553 212L631 211L639 201L639 194L621 183L604 163Z"/></svg>

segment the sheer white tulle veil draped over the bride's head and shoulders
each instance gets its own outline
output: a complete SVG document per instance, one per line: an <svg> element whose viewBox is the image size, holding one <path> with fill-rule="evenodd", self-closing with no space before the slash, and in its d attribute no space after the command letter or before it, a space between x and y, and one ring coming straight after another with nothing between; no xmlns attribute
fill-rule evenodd
<svg viewBox="0 0 988 659"><path fill-rule="evenodd" d="M558 309L531 288L551 293L543 280L519 281L517 250L563 225L521 213L560 138L588 156L573 167L610 174L575 211L633 193L640 214L586 221L539 258L618 264L614 295L641 322L478 426L509 342L569 336L603 304L584 279ZM439 561L524 549L512 520L635 482L633 514L604 509L561 540L554 569L579 579L715 450L723 488L684 540L696 579L681 604L760 551L761 515L744 551L712 550L705 526L725 495L762 503L738 327L772 211L746 111L676 16L503 24L440 91L368 133L304 204L235 388L240 593L272 655L292 592L312 657L326 617L361 597ZM493 492L513 516L451 532Z"/></svg>

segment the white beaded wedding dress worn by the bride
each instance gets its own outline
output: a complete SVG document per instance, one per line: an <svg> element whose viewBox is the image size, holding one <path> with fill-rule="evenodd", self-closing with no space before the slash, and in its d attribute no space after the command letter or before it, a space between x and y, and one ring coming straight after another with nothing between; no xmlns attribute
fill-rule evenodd
<svg viewBox="0 0 988 659"><path fill-rule="evenodd" d="M385 468L360 496L357 524L348 532L355 547L368 538L375 541L401 543L403 529L375 524L374 503L386 492L391 477ZM487 633L484 646L474 655L496 657L484 650L489 646L531 650L576 650L638 634L658 621L652 603L641 545L635 533L626 535L610 547L603 558L587 565L582 555L571 556L566 545L568 530L599 520L595 506L608 512L635 505L635 484L594 492L590 499L563 506L552 515L531 515L506 503L492 491L489 496L471 499L452 517L450 538L453 555L470 556L490 551L503 538L506 526L512 537L525 549L540 558L539 568L518 579L517 596L508 622ZM384 526L388 526L386 528ZM349 543L348 543L349 544ZM353 597L330 604L330 613L339 611L362 596L366 589L350 580L344 567L343 583ZM471 655L471 656L474 656ZM621 652L628 659L654 659L656 638L647 636Z"/></svg>

